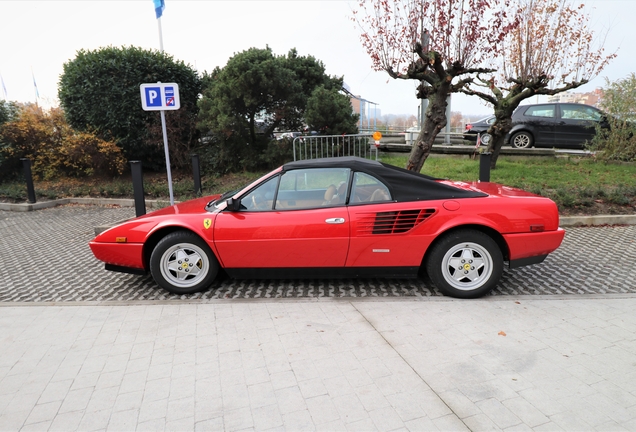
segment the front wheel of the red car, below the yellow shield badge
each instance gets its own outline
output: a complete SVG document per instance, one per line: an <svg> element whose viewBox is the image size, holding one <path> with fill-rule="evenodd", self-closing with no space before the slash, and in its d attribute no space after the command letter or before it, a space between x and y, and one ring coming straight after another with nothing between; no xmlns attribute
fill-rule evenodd
<svg viewBox="0 0 636 432"><path fill-rule="evenodd" d="M150 255L150 273L173 294L192 294L209 287L219 262L199 236L175 231L162 238Z"/></svg>

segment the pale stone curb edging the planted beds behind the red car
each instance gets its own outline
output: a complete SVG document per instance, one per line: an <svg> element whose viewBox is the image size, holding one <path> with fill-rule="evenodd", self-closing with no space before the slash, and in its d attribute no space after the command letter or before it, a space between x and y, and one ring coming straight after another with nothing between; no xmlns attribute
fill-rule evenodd
<svg viewBox="0 0 636 432"><path fill-rule="evenodd" d="M84 204L97 206L134 207L135 200L128 198L62 198L53 201L43 201L34 204L7 204L0 203L0 210L27 212L53 208L66 204ZM160 209L168 206L168 201L146 200L146 207ZM595 215L595 216L562 216L559 219L561 227L599 226L599 225L636 225L636 214L633 215ZM102 227L96 227L102 228Z"/></svg>

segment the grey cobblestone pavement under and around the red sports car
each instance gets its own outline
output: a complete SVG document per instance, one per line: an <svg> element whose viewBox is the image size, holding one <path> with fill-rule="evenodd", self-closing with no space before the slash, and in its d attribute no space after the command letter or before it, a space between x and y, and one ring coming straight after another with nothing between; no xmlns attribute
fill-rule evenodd
<svg viewBox="0 0 636 432"><path fill-rule="evenodd" d="M171 295L150 276L108 272L88 242L93 227L134 216L132 208L70 205L0 211L0 302L440 295L421 279L233 280ZM636 293L636 226L568 228L544 263L504 270L492 295Z"/></svg>

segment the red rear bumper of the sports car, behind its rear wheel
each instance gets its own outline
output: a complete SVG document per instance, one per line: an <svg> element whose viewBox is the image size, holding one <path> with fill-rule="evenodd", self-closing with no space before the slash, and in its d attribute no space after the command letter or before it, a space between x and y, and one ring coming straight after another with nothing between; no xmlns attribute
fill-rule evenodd
<svg viewBox="0 0 636 432"><path fill-rule="evenodd" d="M503 237L508 244L508 259L511 267L513 263L516 267L520 267L543 261L549 253L554 252L561 245L565 231L558 228L556 231L505 234ZM536 262L533 262L532 258Z"/></svg>

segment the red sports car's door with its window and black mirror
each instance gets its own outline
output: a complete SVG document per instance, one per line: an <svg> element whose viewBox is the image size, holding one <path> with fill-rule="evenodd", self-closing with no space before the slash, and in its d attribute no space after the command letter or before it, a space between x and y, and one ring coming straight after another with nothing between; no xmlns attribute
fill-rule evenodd
<svg viewBox="0 0 636 432"><path fill-rule="evenodd" d="M348 168L286 171L239 197L241 210L221 212L214 225L223 266L343 267L349 174Z"/></svg>

